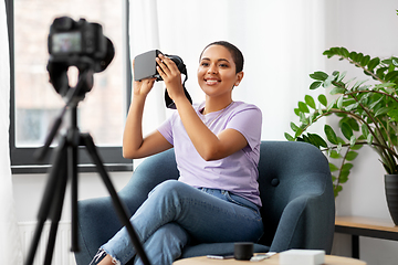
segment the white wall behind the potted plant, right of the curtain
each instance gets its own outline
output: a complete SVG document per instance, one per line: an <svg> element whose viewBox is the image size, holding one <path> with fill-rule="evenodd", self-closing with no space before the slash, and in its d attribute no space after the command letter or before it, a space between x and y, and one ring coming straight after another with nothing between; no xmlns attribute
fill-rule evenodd
<svg viewBox="0 0 398 265"><path fill-rule="evenodd" d="M327 0L326 45L345 46L348 51L370 56L398 55L398 8L396 0ZM348 71L350 77L368 80L353 65L328 60L326 70ZM378 156L365 147L355 160L352 174L336 200L337 215L358 215L390 219L385 191L384 174ZM397 264L398 242L360 237L360 259L368 265ZM336 234L334 253L350 254L350 237Z"/></svg>

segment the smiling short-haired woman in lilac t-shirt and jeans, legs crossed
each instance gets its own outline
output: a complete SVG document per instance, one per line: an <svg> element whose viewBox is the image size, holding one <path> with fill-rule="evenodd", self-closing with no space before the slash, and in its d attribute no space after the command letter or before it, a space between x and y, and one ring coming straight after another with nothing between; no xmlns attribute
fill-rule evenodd
<svg viewBox="0 0 398 265"><path fill-rule="evenodd" d="M157 186L130 219L149 261L171 264L189 242L256 242L263 233L256 182L262 116L258 107L232 100L243 78L242 53L228 42L205 47L198 83L206 102L193 106L177 65L164 55L156 60L177 112L144 138L144 105L155 80L134 82L123 138L130 159L174 147L180 172L178 181ZM122 229L96 258L105 255L101 265L126 264L135 254Z"/></svg>

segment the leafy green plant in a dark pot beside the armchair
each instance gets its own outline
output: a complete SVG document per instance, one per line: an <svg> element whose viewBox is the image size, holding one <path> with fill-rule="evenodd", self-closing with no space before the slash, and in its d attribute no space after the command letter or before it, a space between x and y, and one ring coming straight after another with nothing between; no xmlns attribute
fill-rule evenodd
<svg viewBox="0 0 398 265"><path fill-rule="evenodd" d="M342 191L342 184L348 180L352 161L364 145L371 146L379 155L387 173L386 183L392 180L398 184L398 57L381 60L349 52L345 47L332 47L325 51L324 55L348 61L362 68L368 80L347 81L346 72L338 71L332 74L311 74L314 82L310 89L328 88L327 93L335 99L329 103L325 94L321 94L317 105L312 96L306 95L304 102L298 102L298 107L294 109L300 117L300 124L291 123L294 134L286 132L286 139L310 142L332 158L329 167L335 197ZM336 134L327 124L324 126L324 136L310 131L314 123L329 115L338 117L342 134ZM390 188L386 187L386 192L387 189ZM398 193L398 186L394 189ZM398 211L395 214L398 214ZM398 224L398 215L392 219Z"/></svg>

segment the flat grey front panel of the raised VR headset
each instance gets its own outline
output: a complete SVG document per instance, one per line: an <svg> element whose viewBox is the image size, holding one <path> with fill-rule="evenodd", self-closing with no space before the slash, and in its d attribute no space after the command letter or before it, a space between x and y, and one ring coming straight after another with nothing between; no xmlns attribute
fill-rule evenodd
<svg viewBox="0 0 398 265"><path fill-rule="evenodd" d="M134 59L134 80L157 78L160 76L156 70L156 57L161 54L159 50L142 53Z"/></svg>

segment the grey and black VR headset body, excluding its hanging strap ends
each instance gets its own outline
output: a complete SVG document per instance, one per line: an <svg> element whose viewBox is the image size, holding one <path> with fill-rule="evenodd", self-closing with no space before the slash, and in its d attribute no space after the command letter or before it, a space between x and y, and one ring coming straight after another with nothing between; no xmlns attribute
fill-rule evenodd
<svg viewBox="0 0 398 265"><path fill-rule="evenodd" d="M156 81L163 81L161 76L156 70L156 57L163 54L159 50L153 50L143 54L137 55L134 59L134 80L142 81L145 78L156 78ZM187 75L187 68L184 64L182 60L177 55L168 55L165 56L169 57L175 62L178 70Z"/></svg>

